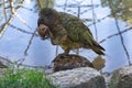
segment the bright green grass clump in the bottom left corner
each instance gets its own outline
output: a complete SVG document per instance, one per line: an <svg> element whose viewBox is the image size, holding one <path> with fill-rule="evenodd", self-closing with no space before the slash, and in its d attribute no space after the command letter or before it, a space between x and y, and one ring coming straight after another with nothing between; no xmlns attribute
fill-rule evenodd
<svg viewBox="0 0 132 88"><path fill-rule="evenodd" d="M21 68L13 70L8 68L0 78L0 88L58 88L46 78L44 72Z"/></svg>

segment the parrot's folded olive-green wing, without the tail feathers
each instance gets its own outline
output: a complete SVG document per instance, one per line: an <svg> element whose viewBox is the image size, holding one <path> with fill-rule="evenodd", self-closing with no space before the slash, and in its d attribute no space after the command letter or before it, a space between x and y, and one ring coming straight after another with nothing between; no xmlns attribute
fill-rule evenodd
<svg viewBox="0 0 132 88"><path fill-rule="evenodd" d="M90 30L75 15L59 12L62 25L67 31L67 35L75 42L89 42L91 44L92 34Z"/></svg>

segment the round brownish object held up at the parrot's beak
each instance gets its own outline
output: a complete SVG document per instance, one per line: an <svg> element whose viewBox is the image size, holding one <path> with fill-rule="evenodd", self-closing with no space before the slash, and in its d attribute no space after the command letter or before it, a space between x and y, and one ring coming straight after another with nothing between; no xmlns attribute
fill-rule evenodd
<svg viewBox="0 0 132 88"><path fill-rule="evenodd" d="M37 26L37 33L38 35L44 38L47 34L47 31L48 31L48 26L44 25L44 24L40 24Z"/></svg>

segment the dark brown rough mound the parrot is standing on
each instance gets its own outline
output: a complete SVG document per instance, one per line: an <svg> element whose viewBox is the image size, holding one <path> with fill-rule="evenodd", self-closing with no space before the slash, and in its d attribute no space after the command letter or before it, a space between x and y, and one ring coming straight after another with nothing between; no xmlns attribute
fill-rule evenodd
<svg viewBox="0 0 132 88"><path fill-rule="evenodd" d="M73 69L78 67L94 67L94 66L87 58L75 54L58 55L53 61L53 72Z"/></svg>

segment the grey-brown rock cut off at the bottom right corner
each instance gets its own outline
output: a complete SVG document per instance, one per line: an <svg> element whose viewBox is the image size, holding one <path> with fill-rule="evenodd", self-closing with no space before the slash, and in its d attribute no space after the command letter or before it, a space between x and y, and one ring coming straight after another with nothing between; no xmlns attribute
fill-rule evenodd
<svg viewBox="0 0 132 88"><path fill-rule="evenodd" d="M110 88L132 88L132 66L121 67L113 72Z"/></svg>

